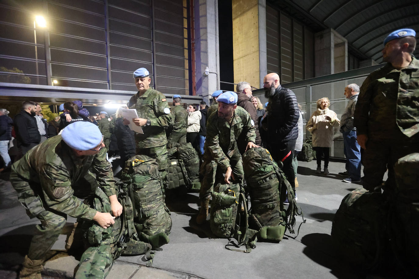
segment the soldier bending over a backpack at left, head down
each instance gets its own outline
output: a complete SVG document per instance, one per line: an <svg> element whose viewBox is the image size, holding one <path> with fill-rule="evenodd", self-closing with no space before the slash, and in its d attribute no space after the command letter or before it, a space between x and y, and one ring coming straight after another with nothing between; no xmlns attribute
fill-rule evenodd
<svg viewBox="0 0 419 279"><path fill-rule="evenodd" d="M91 177L89 170L96 174L98 184L109 197L113 215L121 215L122 206L103 147L97 126L78 121L64 128L62 135L32 148L12 165L10 182L19 201L30 217L41 221L35 228L20 278L41 278L47 253L57 241L67 214L94 220L103 228L114 224L115 217L111 214L98 212L78 199L90 195L97 186L87 182L86 177Z"/></svg>

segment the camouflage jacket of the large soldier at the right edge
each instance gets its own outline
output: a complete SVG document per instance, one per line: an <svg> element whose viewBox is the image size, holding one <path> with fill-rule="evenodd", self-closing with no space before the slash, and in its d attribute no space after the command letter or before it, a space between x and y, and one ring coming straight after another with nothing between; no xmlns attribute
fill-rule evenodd
<svg viewBox="0 0 419 279"><path fill-rule="evenodd" d="M388 63L362 83L354 113L358 134L388 139L394 131L408 137L419 132L419 61L412 57L400 70Z"/></svg>

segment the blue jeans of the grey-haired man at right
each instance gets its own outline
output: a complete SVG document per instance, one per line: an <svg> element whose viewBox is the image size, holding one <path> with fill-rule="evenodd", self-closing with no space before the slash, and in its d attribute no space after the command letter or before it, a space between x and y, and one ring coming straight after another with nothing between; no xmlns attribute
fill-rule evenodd
<svg viewBox="0 0 419 279"><path fill-rule="evenodd" d="M352 180L361 178L361 147L357 142L357 131L343 132L346 170Z"/></svg>

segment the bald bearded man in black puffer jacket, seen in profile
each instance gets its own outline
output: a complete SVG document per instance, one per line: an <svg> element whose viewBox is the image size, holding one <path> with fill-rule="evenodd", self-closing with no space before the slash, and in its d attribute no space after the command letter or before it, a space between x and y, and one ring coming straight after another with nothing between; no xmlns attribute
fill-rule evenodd
<svg viewBox="0 0 419 279"><path fill-rule="evenodd" d="M284 165L282 170L295 194L292 157L298 137L297 122L300 117L297 97L292 90L279 84L279 76L276 73L267 74L263 81L265 97L269 98L266 116L262 120L262 127L266 131L266 142L272 158L279 166L281 165L279 161L282 161Z"/></svg>

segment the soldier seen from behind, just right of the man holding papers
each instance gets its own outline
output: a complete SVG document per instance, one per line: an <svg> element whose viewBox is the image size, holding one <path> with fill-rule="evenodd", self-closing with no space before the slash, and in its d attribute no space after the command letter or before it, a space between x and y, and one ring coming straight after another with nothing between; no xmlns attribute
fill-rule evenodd
<svg viewBox="0 0 419 279"><path fill-rule="evenodd" d="M181 96L173 95L173 108L171 131L167 138L168 143L186 143L186 127L188 127L188 112L181 106Z"/></svg>

